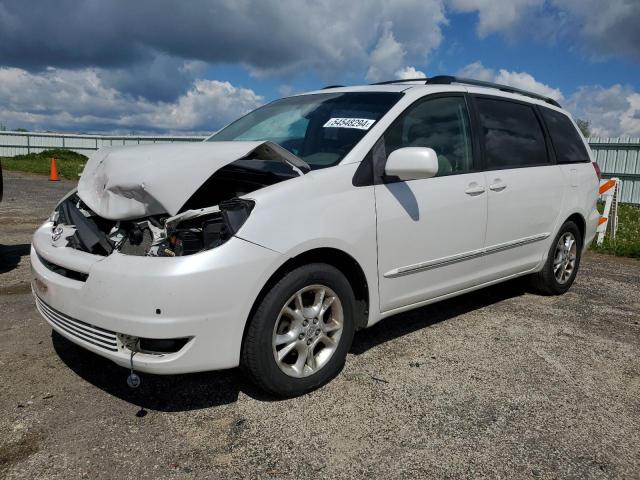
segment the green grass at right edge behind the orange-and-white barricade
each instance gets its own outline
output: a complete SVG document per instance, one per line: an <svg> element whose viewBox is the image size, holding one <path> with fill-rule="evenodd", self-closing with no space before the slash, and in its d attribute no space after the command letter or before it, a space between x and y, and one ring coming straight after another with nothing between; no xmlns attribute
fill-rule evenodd
<svg viewBox="0 0 640 480"><path fill-rule="evenodd" d="M602 207L598 207L601 213ZM618 257L640 258L640 207L619 205L616 239L611 240L610 232L607 232L602 245L597 246L594 240L591 249Z"/></svg>

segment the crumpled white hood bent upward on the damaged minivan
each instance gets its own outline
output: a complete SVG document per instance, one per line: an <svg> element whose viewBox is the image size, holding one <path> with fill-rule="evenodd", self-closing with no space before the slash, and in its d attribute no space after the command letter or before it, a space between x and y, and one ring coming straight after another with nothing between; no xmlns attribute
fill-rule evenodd
<svg viewBox="0 0 640 480"><path fill-rule="evenodd" d="M176 215L217 170L236 160L281 160L298 173L309 166L272 142L201 142L107 147L87 162L78 195L97 215L130 220Z"/></svg>

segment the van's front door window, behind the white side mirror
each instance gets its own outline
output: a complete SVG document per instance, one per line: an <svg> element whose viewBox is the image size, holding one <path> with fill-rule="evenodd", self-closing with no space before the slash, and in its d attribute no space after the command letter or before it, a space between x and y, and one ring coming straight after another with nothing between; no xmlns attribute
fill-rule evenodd
<svg viewBox="0 0 640 480"><path fill-rule="evenodd" d="M384 136L387 155L402 147L429 147L438 154L438 176L473 168L469 116L463 97L425 100L403 113Z"/></svg>

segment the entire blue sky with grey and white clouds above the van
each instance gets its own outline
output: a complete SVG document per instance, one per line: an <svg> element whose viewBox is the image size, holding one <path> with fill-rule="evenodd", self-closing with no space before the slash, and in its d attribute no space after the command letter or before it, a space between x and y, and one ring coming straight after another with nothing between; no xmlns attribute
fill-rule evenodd
<svg viewBox="0 0 640 480"><path fill-rule="evenodd" d="M327 84L460 74L640 137L640 0L0 0L0 125L202 133Z"/></svg>

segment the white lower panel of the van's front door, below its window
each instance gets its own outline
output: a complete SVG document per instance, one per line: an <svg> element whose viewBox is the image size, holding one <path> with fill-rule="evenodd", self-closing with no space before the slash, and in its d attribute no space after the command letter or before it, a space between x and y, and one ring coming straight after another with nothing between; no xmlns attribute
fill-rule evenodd
<svg viewBox="0 0 640 480"><path fill-rule="evenodd" d="M389 278L385 273L471 254L484 247L487 196L482 173L376 185L380 310L451 293L479 281L486 261L471 257Z"/></svg>

